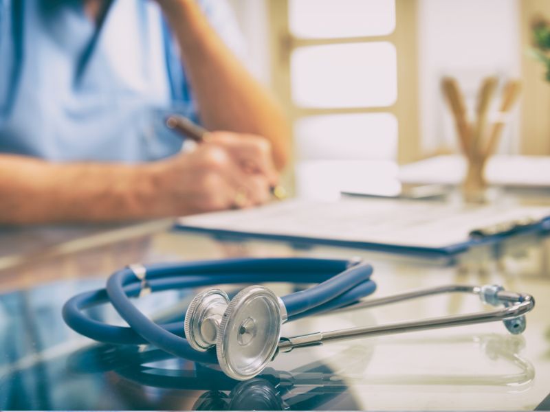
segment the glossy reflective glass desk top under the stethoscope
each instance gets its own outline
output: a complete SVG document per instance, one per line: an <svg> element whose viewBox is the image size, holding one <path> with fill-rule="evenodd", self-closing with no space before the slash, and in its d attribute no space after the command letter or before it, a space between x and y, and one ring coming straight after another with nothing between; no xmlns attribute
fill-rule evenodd
<svg viewBox="0 0 550 412"><path fill-rule="evenodd" d="M0 233L0 409L535 409L550 387L550 279L546 241L453 262L287 244L230 242L170 231L170 221L129 227L40 228ZM509 251L514 251L512 256ZM237 256L360 255L375 266L376 295L439 284L501 283L532 293L522 336L489 323L334 343L281 354L267 374L239 384L155 350L115 349L78 336L61 306L132 262ZM277 285L278 293L289 286ZM146 297L146 312L178 310L188 292ZM181 307L181 303L179 304ZM303 319L283 336L481 310L445 295ZM179 309L181 310L181 308ZM107 308L93 316L117 318ZM256 403L254 403L256 402ZM259 402L259 403L258 403ZM262 403L263 402L263 403ZM266 403L267 402L267 403Z"/></svg>

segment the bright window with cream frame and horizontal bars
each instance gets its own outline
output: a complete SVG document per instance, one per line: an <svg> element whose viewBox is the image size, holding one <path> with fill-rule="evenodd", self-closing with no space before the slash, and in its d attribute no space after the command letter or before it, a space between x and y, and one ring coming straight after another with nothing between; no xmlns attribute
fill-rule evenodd
<svg viewBox="0 0 550 412"><path fill-rule="evenodd" d="M395 182L397 162L415 160L415 8L416 0L270 1L274 89L291 111L298 195L333 198L346 185L393 192L381 173Z"/></svg>

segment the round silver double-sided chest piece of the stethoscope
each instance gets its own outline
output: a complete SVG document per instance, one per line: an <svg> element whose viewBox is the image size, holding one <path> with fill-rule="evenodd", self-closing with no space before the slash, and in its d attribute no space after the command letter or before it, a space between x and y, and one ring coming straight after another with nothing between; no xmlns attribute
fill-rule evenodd
<svg viewBox="0 0 550 412"><path fill-rule="evenodd" d="M219 289L199 293L186 312L185 332L192 347L216 346L221 369L236 380L259 374L274 357L284 305L263 286L244 288L228 302Z"/></svg>

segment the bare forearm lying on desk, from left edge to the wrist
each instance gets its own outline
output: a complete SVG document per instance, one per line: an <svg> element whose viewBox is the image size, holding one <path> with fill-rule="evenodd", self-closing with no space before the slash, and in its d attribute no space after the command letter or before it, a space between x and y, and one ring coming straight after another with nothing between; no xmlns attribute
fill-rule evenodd
<svg viewBox="0 0 550 412"><path fill-rule="evenodd" d="M107 221L154 214L140 167L0 155L0 223Z"/></svg>

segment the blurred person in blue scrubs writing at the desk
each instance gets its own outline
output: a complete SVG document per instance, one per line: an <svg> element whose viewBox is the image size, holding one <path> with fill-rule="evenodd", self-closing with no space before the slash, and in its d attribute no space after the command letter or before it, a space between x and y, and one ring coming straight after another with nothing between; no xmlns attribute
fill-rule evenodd
<svg viewBox="0 0 550 412"><path fill-rule="evenodd" d="M267 201L285 119L224 0L0 0L0 224ZM212 139L180 152L170 113Z"/></svg>

